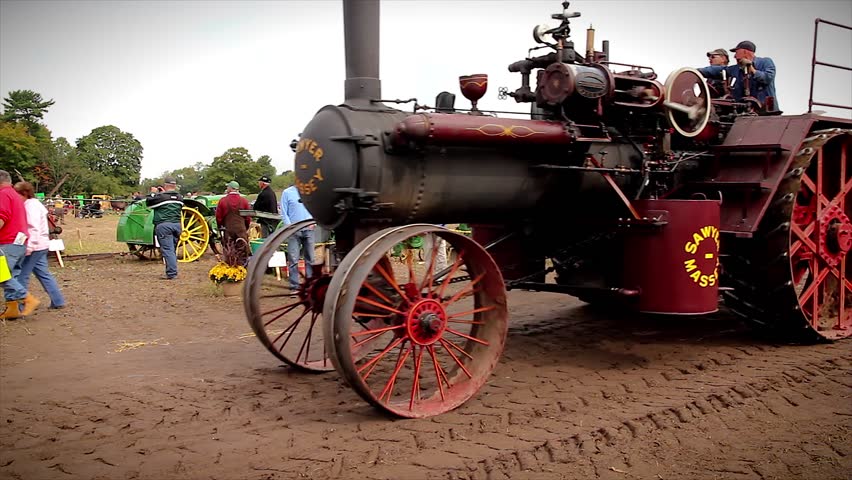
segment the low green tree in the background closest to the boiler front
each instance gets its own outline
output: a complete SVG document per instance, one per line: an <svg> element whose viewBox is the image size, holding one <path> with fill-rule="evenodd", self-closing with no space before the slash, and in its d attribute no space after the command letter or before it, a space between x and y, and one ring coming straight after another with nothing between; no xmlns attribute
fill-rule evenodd
<svg viewBox="0 0 852 480"><path fill-rule="evenodd" d="M205 190L221 193L226 183L236 180L240 184L240 192L248 195L259 191L257 179L261 175L275 176L275 167L268 155L255 162L245 148L229 148L214 158L204 171L203 184Z"/></svg>

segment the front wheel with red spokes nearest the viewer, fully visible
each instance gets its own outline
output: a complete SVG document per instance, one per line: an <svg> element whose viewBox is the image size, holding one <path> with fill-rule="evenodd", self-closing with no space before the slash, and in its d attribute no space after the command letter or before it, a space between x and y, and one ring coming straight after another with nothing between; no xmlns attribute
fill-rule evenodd
<svg viewBox="0 0 852 480"><path fill-rule="evenodd" d="M446 240L419 264L391 262L414 236ZM327 350L338 371L373 406L407 418L450 411L482 387L506 341L503 277L473 240L432 225L386 229L360 242L332 278L324 312Z"/></svg>

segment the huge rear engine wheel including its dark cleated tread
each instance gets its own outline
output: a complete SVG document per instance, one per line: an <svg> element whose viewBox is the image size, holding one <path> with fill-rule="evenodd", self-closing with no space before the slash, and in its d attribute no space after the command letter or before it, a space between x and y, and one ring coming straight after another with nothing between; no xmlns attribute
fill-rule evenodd
<svg viewBox="0 0 852 480"><path fill-rule="evenodd" d="M852 335L852 130L816 131L782 180L752 239L725 268L726 303L785 340ZM848 198L847 198L848 197Z"/></svg>

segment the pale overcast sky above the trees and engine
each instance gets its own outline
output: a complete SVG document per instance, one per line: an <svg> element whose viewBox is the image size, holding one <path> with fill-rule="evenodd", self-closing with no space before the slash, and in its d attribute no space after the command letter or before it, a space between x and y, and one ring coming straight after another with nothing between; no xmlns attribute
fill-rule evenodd
<svg viewBox="0 0 852 480"><path fill-rule="evenodd" d="M532 29L559 1L392 0L382 2L385 98L457 94L458 76L489 75L480 108L529 111L497 99L514 90L508 64L534 46ZM573 39L585 50L610 41L613 61L653 67L660 80L705 66L705 53L740 40L778 68L786 114L807 111L814 19L852 25L852 1L575 0ZM34 90L56 104L45 116L54 138L76 139L103 125L132 133L144 148L142 176L209 164L231 147L293 168L290 140L323 105L343 100L343 13L339 0L39 1L0 0L0 94ZM540 52L539 52L540 53ZM820 27L819 59L852 66L852 32ZM852 105L852 73L817 67L814 99ZM850 112L825 107L834 116Z"/></svg>

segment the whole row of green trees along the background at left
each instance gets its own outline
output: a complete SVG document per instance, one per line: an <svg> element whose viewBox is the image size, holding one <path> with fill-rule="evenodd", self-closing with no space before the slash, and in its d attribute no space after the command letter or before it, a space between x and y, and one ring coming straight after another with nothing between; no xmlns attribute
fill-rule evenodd
<svg viewBox="0 0 852 480"><path fill-rule="evenodd" d="M0 168L13 178L31 182L36 191L54 195L130 196L147 193L162 177L175 177L181 192L221 193L236 180L243 193L256 193L257 179L267 175L276 190L293 184L293 172L277 175L272 159L252 159L243 147L229 148L207 165L166 171L157 178L141 179L142 144L132 133L113 125L93 129L72 145L65 137L53 139L44 114L54 105L32 90L15 90L3 99L0 116Z"/></svg>

